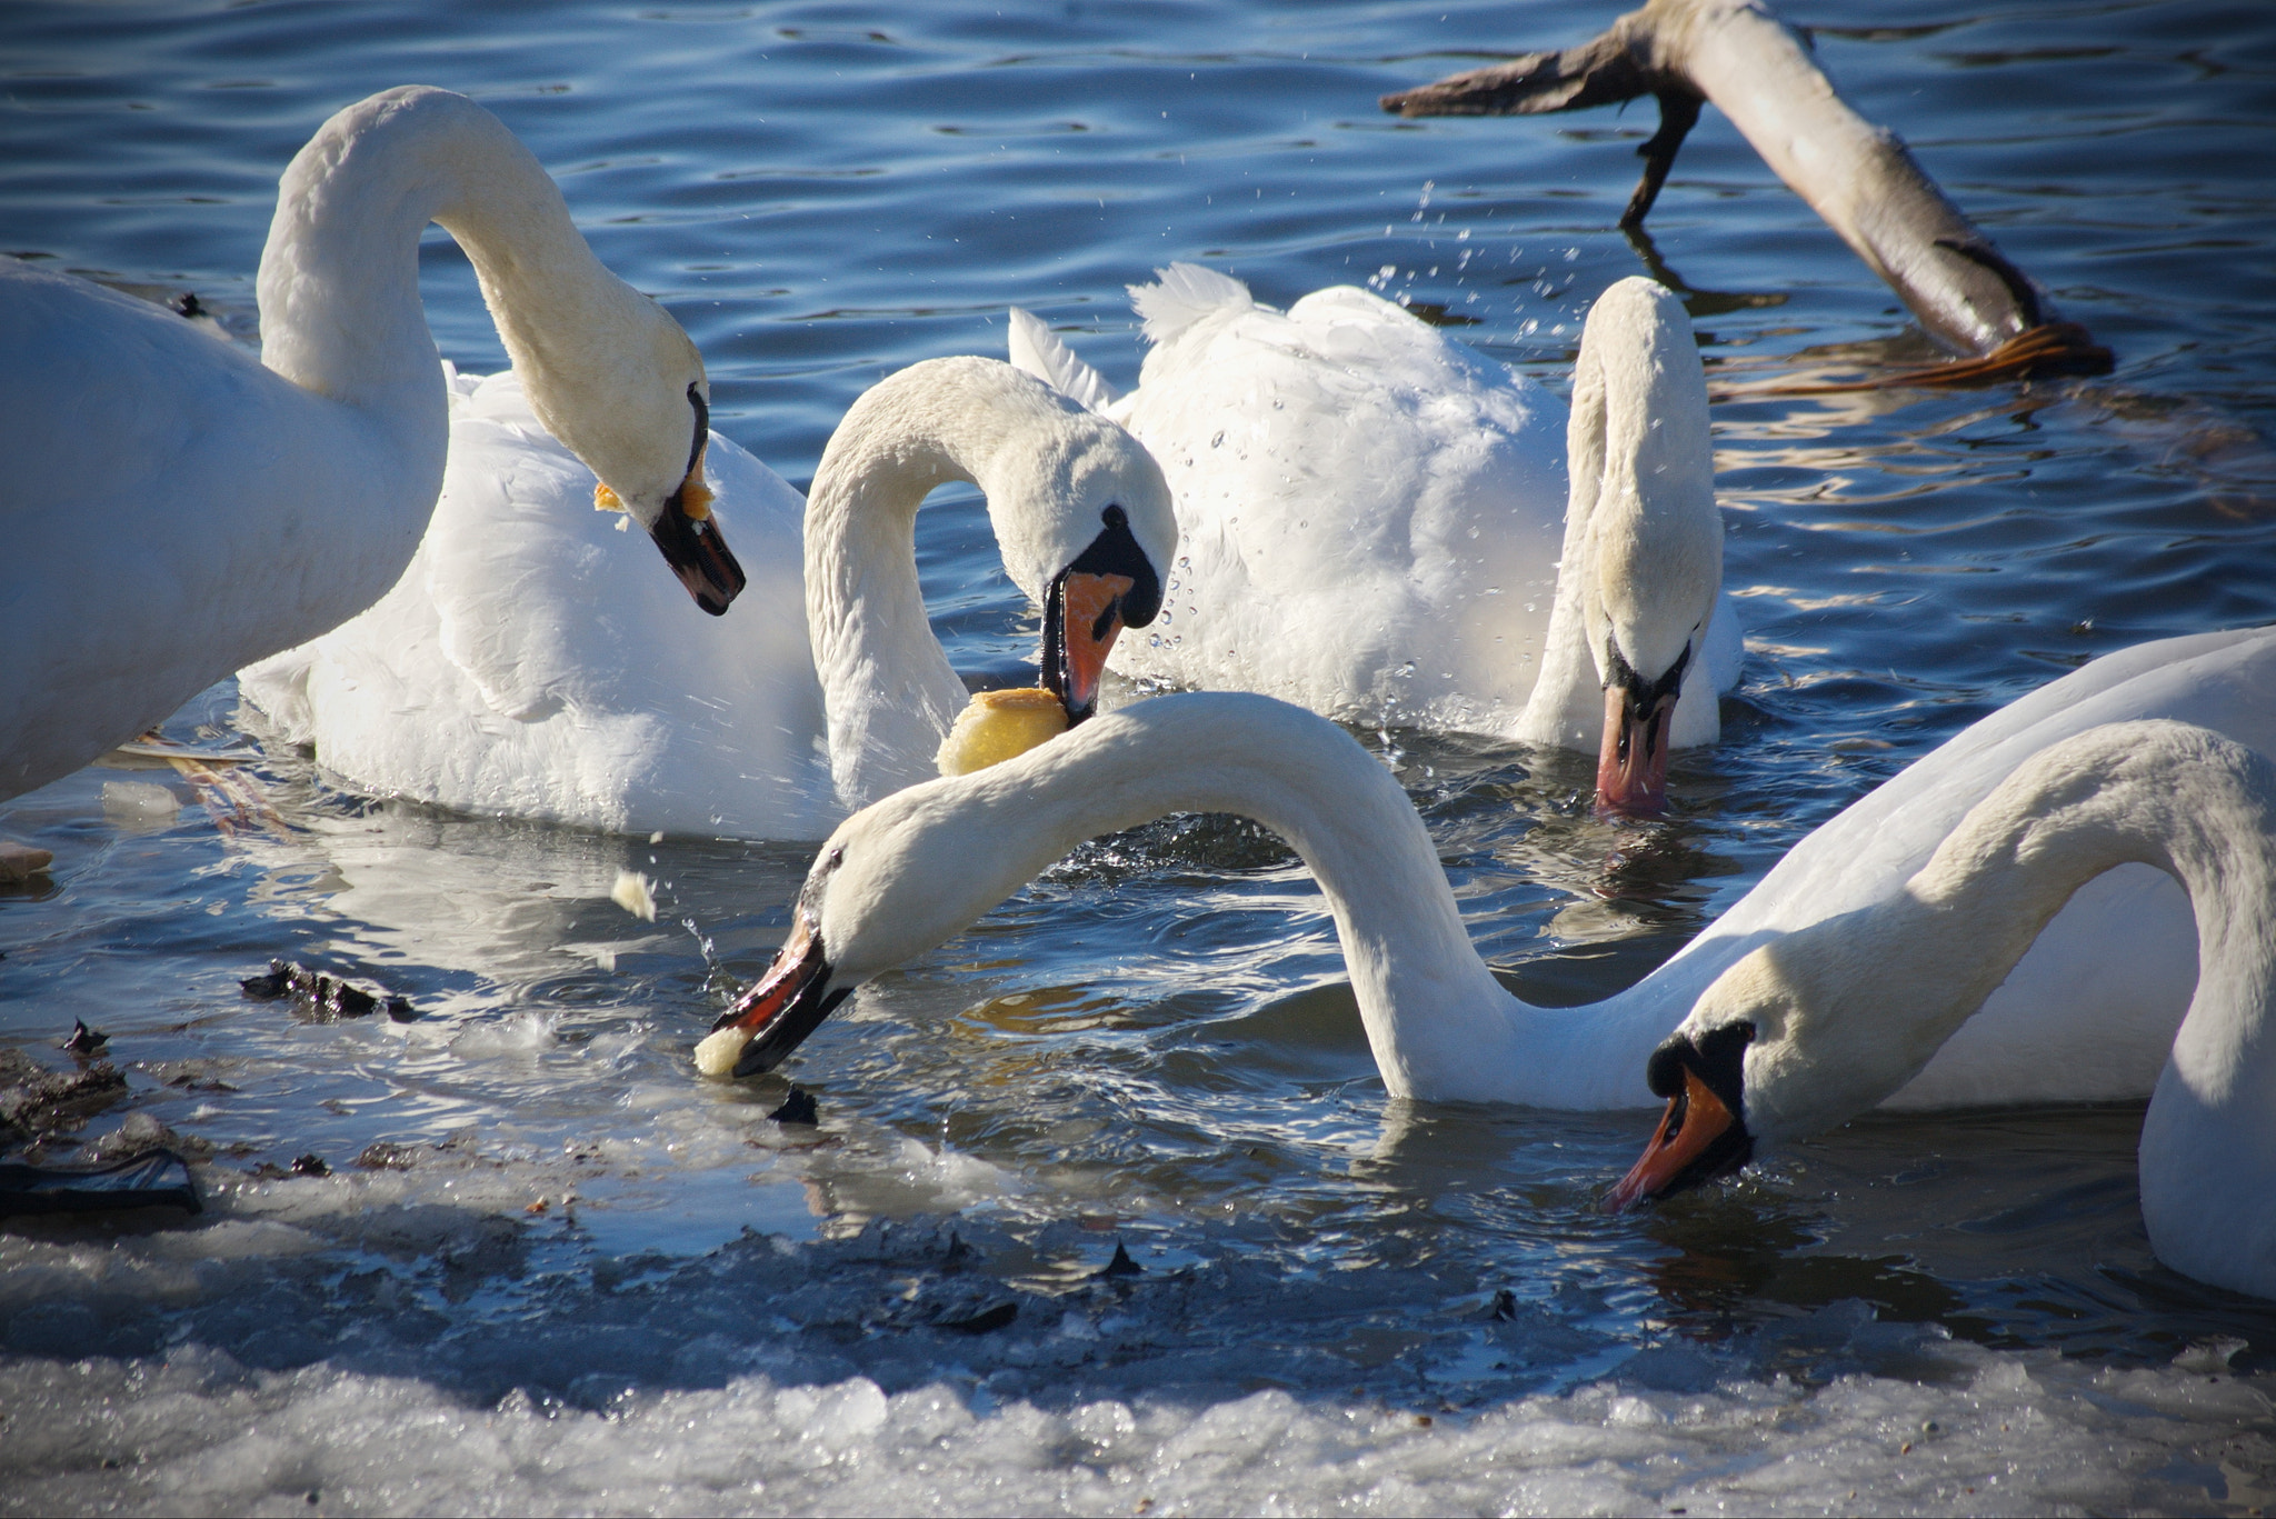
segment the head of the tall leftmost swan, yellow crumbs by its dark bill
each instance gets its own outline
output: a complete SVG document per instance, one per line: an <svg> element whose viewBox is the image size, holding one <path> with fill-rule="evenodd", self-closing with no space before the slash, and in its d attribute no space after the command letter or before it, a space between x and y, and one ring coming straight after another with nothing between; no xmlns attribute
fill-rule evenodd
<svg viewBox="0 0 2276 1519"><path fill-rule="evenodd" d="M608 271L601 280L574 337L549 330L539 342L503 310L498 332L530 410L601 476L594 506L640 522L696 606L717 617L744 576L703 485L703 355L655 301Z"/></svg>

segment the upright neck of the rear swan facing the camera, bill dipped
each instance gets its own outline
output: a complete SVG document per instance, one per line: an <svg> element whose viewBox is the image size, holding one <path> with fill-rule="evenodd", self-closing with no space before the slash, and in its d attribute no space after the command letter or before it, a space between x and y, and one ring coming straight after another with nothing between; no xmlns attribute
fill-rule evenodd
<svg viewBox="0 0 2276 1519"><path fill-rule="evenodd" d="M1648 280L1621 280L1589 312L1573 362L1566 478L1557 599L1520 736L1593 749L1607 640L1657 679L1723 585L1707 378L1682 305Z"/></svg>

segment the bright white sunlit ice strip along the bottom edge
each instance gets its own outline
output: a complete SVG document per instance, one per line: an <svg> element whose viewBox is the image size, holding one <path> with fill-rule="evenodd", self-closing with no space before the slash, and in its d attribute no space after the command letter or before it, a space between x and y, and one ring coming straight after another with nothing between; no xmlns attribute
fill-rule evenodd
<svg viewBox="0 0 2276 1519"><path fill-rule="evenodd" d="M1011 1401L869 1378L626 1391L605 1412L312 1364L0 1362L0 1512L2208 1512L2262 1508L2260 1387L1946 1346L1850 1373L1422 1417L1268 1389ZM2262 1476L2256 1476L2262 1473Z"/></svg>

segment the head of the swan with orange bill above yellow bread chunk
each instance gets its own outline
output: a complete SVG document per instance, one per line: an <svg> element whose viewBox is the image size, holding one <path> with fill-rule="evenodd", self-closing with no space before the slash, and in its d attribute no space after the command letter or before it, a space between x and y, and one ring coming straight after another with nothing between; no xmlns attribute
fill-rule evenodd
<svg viewBox="0 0 2276 1519"><path fill-rule="evenodd" d="M1145 444L1033 385L1061 412L1058 426L983 485L1004 567L1042 604L1042 685L1077 724L1097 711L1099 676L1122 629L1143 629L1161 613L1177 517Z"/></svg>

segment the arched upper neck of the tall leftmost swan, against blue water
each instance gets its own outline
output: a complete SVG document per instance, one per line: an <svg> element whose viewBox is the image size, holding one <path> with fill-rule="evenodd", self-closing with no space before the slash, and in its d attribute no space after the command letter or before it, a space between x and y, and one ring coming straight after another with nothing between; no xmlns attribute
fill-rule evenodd
<svg viewBox="0 0 2276 1519"><path fill-rule="evenodd" d="M630 292L594 260L530 150L473 100L407 87L339 112L287 166L257 285L262 362L321 396L417 405L442 424L419 303L430 221L473 260L517 369L574 367L558 353L576 342L564 335L621 326Z"/></svg>

